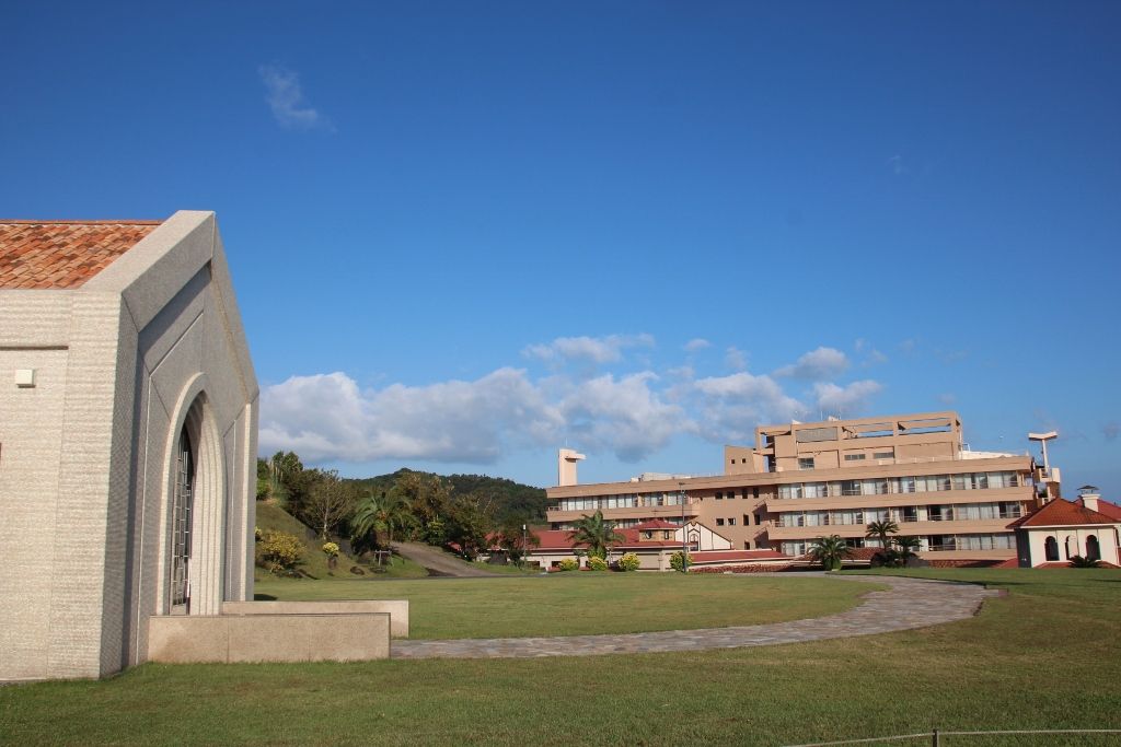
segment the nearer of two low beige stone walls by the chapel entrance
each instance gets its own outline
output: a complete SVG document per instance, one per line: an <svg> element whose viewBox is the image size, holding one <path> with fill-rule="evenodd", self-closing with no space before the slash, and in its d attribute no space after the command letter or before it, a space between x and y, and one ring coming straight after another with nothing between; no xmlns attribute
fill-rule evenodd
<svg viewBox="0 0 1121 747"><path fill-rule="evenodd" d="M389 615L174 615L148 619L148 660L172 664L389 659Z"/></svg>

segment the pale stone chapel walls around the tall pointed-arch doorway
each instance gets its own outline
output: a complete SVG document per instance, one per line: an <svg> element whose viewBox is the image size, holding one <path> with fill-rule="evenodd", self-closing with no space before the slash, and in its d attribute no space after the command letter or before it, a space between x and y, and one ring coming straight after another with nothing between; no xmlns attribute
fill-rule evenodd
<svg viewBox="0 0 1121 747"><path fill-rule="evenodd" d="M209 433L192 613L251 598L257 401L211 213L177 213L78 289L0 291L0 680L143 661L192 412Z"/></svg>

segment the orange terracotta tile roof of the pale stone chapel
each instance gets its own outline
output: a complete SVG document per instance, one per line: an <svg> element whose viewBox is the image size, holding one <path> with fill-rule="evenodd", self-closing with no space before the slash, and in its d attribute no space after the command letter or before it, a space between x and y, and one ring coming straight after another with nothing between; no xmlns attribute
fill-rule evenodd
<svg viewBox="0 0 1121 747"><path fill-rule="evenodd" d="M0 220L0 289L77 288L160 223Z"/></svg>

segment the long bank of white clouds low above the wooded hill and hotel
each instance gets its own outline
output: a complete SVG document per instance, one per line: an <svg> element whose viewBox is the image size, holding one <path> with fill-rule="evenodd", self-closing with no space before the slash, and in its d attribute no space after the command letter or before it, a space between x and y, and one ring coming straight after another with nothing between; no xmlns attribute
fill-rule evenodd
<svg viewBox="0 0 1121 747"><path fill-rule="evenodd" d="M565 337L525 353L554 362L610 364L628 347L652 345L649 335ZM799 361L819 367L828 363L828 357ZM833 367L840 366L834 362ZM747 371L697 379L689 365L667 367L664 377L652 371L535 376L502 367L474 381L373 389L360 387L342 372L293 376L262 389L260 445L265 454L291 449L308 464L493 464L519 450L552 449L567 440L590 454L637 461L677 435L749 442L762 423L805 419L818 409L854 414L882 389L870 380L845 386L815 381L799 399L785 390L788 383Z"/></svg>

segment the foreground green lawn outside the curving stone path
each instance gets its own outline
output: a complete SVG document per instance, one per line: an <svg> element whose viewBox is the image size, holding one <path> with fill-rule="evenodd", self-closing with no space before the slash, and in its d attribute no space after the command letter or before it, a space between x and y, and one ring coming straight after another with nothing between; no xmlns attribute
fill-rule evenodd
<svg viewBox="0 0 1121 747"><path fill-rule="evenodd" d="M146 665L105 682L0 688L0 741L789 745L935 726L1121 728L1121 571L916 575L1009 594L975 618L934 628L692 654ZM408 582L385 586L398 583ZM631 610L610 600L566 614ZM1118 740L943 741L1071 744Z"/></svg>

